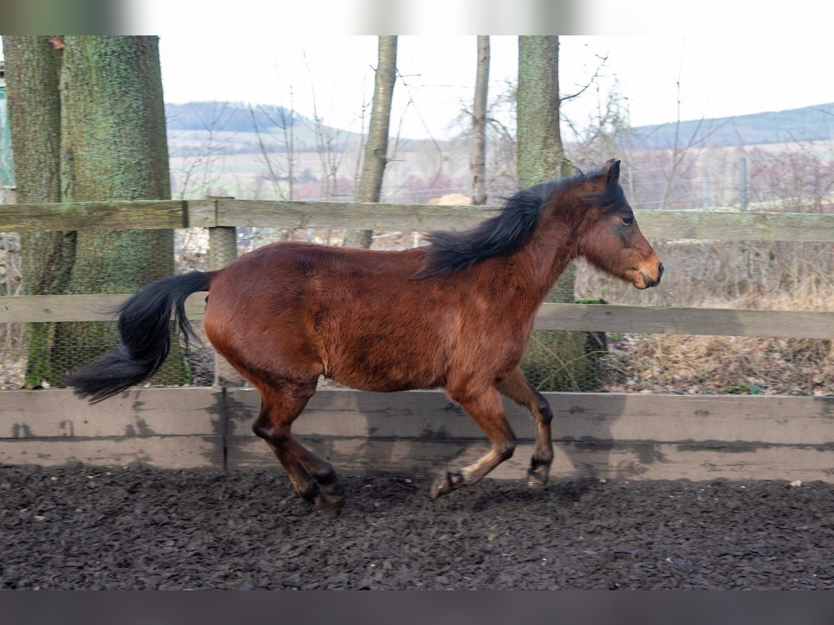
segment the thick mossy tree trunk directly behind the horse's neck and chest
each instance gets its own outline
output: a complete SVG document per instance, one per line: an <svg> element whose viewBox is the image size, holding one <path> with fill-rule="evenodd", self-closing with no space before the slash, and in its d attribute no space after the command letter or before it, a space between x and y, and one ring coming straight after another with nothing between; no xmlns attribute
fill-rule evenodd
<svg viewBox="0 0 834 625"><path fill-rule="evenodd" d="M527 188L570 173L560 133L559 37L519 37L517 93L518 178ZM570 264L548 302L575 301L576 269ZM585 334L535 331L522 368L547 390L581 390L592 378L587 371Z"/></svg>

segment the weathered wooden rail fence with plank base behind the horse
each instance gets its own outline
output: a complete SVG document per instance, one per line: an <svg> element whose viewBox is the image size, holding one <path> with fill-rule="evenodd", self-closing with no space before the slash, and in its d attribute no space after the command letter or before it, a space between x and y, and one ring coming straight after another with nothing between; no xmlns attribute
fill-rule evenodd
<svg viewBox="0 0 834 625"><path fill-rule="evenodd" d="M257 202L77 203L0 206L0 232L209 228L213 252L235 226L467 228L489 208L413 204ZM834 243L834 215L636 211L650 240ZM231 237L231 239L230 239ZM214 253L213 263L228 258ZM0 298L0 323L97 321L125 295ZM200 318L204 294L188 299ZM834 313L551 304L535 328L618 333L834 337ZM554 408L557 477L761 478L834 481L834 398L547 393ZM143 388L90 407L68 390L0 392L0 463L158 467L276 467L250 433L257 393L242 388ZM521 478L534 433L507 404L520 445L495 477ZM340 468L456 465L485 451L471 420L436 391L319 391L295 432Z"/></svg>

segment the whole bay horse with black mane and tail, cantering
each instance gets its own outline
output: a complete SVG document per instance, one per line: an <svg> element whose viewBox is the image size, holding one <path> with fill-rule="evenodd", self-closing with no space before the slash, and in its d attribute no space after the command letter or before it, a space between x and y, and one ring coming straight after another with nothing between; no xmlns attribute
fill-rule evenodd
<svg viewBox="0 0 834 625"><path fill-rule="evenodd" d="M98 402L150 378L170 345L172 313L188 348L191 293L208 291L203 328L214 348L261 395L254 433L272 448L314 507L341 505L333 466L290 434L324 375L364 391L443 388L484 430L489 453L440 473L431 497L477 483L513 453L501 395L536 424L531 488L544 488L552 413L519 363L535 313L573 259L643 289L663 265L637 227L619 183L620 161L551 180L508 198L465 232L435 232L398 252L272 243L219 271L163 278L118 310L121 343L65 378Z"/></svg>

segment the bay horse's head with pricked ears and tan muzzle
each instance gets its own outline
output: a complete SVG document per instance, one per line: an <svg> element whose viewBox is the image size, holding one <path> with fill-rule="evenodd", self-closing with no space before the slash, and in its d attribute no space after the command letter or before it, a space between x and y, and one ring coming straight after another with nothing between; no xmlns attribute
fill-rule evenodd
<svg viewBox="0 0 834 625"><path fill-rule="evenodd" d="M620 161L612 158L582 187L577 192L587 208L577 228L577 255L636 288L656 287L663 263L637 227L620 188Z"/></svg>

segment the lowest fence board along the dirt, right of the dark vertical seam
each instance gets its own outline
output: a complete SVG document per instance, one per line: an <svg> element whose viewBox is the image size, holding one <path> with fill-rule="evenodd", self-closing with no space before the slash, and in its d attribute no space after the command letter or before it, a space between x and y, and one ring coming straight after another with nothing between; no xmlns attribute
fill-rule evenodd
<svg viewBox="0 0 834 625"><path fill-rule="evenodd" d="M489 446L473 441L414 441L305 438L314 453L338 471L423 473L463 468L486 453ZM669 443L555 443L553 481L575 478L619 480L714 479L834 482L834 450L787 446L708 448ZM518 480L533 453L531 443L515 448L513 458L490 478ZM227 443L229 470L275 468L279 463L263 441L234 437ZM429 480L425 480L426 492Z"/></svg>

